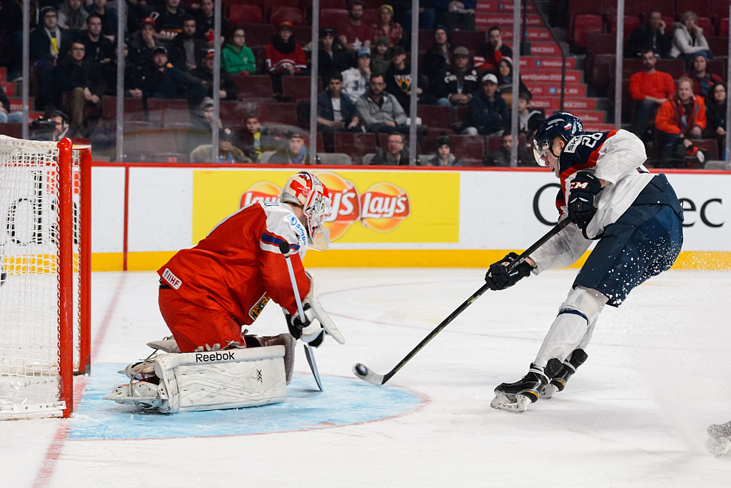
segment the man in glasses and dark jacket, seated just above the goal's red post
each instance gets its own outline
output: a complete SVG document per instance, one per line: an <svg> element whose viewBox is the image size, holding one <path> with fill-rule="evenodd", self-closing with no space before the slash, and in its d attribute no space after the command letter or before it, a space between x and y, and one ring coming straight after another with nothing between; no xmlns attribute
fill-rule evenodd
<svg viewBox="0 0 731 488"><path fill-rule="evenodd" d="M96 118L101 116L102 95L106 89L105 79L98 67L84 60L83 42L74 40L69 56L56 67L58 90L68 97L71 119L71 137L86 138L90 132L90 120L85 119L87 107L95 108Z"/></svg>

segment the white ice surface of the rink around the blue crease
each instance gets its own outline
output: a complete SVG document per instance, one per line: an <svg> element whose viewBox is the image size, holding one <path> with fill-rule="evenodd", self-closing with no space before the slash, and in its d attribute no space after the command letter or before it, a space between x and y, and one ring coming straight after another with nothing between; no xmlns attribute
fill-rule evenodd
<svg viewBox="0 0 731 488"><path fill-rule="evenodd" d="M492 390L526 372L574 270L485 293L381 387L357 380L352 365L390 370L480 288L484 269L314 273L347 340L327 339L316 350L325 386L318 395L336 398L332 390L345 380L328 378L338 376L362 383L364 401L384 401L369 397L371 388L409 388L420 394L420 408L383 421L260 435L221 435L181 417L192 436L167 439L74 438L74 422L98 418L81 409L70 421L0 422L0 486L730 485L731 460L711 456L703 443L708 424L731 418L731 271L670 271L619 309L607 307L567 389L519 415L491 409ZM146 356L145 342L168 334L156 287L154 273L94 274L99 375L106 364ZM284 331L279 309L270 304L251 331ZM308 374L301 346L295 370ZM90 385L94 365L92 377ZM135 417L118 412L120 421Z"/></svg>

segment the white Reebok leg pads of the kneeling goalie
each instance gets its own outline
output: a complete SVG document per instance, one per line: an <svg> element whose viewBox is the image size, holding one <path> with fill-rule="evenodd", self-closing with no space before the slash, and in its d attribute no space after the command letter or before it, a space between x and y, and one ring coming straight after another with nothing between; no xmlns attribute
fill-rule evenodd
<svg viewBox="0 0 731 488"><path fill-rule="evenodd" d="M162 413L254 407L281 402L292 378L295 339L246 336L247 348L178 350L173 340L151 342L155 354L122 373L130 383L105 399ZM259 345L260 347L252 347Z"/></svg>

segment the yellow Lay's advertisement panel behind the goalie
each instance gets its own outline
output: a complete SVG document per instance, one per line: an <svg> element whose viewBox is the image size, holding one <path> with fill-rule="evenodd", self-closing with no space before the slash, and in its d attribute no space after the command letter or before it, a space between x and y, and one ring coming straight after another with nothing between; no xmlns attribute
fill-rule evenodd
<svg viewBox="0 0 731 488"><path fill-rule="evenodd" d="M333 200L330 241L458 242L459 178L448 171L313 171ZM194 170L193 243L242 206L277 200L292 170Z"/></svg>

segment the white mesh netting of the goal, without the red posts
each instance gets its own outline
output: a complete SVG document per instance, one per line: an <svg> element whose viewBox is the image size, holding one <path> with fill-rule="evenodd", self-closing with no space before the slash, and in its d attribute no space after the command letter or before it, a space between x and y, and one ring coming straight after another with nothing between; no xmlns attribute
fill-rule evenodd
<svg viewBox="0 0 731 488"><path fill-rule="evenodd" d="M0 285L0 418L16 413L55 415L55 411L60 415L64 407L58 402L58 154L56 143L0 136L0 272L4 277ZM77 218L74 229L61 229L75 234L75 344L79 336L76 222ZM74 364L78 364L74 349Z"/></svg>

